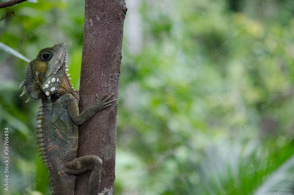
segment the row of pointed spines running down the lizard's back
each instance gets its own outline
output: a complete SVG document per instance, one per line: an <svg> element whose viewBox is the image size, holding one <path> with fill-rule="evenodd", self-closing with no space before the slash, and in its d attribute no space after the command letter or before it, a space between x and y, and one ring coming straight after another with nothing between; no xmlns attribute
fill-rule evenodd
<svg viewBox="0 0 294 195"><path fill-rule="evenodd" d="M44 161L42 162L42 164L45 163L43 166L46 166L45 169L48 168L47 172L50 173L50 167L49 167L49 163L48 163L48 161L47 161L47 157L46 157L46 153L45 153L45 148L44 148L43 135L42 135L42 117L43 117L43 108L42 108L42 106L40 107L40 109L41 109L41 110L39 110L39 112L38 112L39 114L38 114L37 119L36 119L36 120L38 120L36 124L41 124L41 125L39 125L39 126L36 127L35 130L38 130L38 131L36 132L35 135L37 135L37 134L39 134L39 133L41 133L41 134L38 135L38 136L36 137L36 139L39 139L39 140L37 141L36 144L40 144L40 145L37 147L37 148L40 148L38 152L42 152L42 153L40 153L39 156L43 156L43 157L41 158L41 161L44 160ZM51 177L51 174L49 174L48 177ZM49 179L49 181L52 181L52 177ZM52 186L52 185L53 185L53 183L51 182L49 186ZM54 190L53 187L51 188L51 191L52 191L52 190ZM54 192L53 192L52 194L54 194Z"/></svg>

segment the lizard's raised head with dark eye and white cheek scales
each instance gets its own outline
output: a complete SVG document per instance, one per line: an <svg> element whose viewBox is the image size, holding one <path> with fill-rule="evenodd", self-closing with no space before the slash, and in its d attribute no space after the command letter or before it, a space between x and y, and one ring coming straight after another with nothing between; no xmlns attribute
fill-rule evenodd
<svg viewBox="0 0 294 195"><path fill-rule="evenodd" d="M19 86L19 88L26 86L21 96L29 93L28 102L40 99L44 94L49 96L54 93L72 93L73 87L65 65L66 57L65 43L42 49L37 58L29 62L26 67L24 80Z"/></svg>

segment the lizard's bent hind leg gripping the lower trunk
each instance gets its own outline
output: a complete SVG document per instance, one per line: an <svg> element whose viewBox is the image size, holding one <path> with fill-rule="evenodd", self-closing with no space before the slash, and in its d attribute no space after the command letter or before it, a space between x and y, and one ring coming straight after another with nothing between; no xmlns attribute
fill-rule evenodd
<svg viewBox="0 0 294 195"><path fill-rule="evenodd" d="M66 173L72 175L83 174L92 171L89 184L89 195L105 195L108 192L106 189L103 193L99 193L101 181L102 160L98 156L82 156L66 163Z"/></svg>

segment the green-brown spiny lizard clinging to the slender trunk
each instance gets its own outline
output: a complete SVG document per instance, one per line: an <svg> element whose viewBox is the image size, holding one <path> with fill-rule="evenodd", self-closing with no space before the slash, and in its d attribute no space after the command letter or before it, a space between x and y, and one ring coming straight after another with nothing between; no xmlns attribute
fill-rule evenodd
<svg viewBox="0 0 294 195"><path fill-rule="evenodd" d="M26 67L24 87L20 96L29 94L26 102L42 100L37 115L36 139L40 148L39 156L48 168L54 195L74 195L76 175L92 171L88 182L89 195L105 195L108 189L99 193L102 160L98 156L88 155L76 158L78 149L78 125L85 123L95 113L111 105L105 94L83 112L79 113L78 90L74 90L66 69L67 50L65 43L42 49L36 59Z"/></svg>

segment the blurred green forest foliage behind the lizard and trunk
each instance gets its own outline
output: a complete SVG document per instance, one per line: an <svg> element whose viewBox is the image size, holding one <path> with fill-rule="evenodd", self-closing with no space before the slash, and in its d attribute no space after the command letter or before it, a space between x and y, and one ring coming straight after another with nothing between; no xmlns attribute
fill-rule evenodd
<svg viewBox="0 0 294 195"><path fill-rule="evenodd" d="M0 42L30 60L65 42L79 87L84 1L0 10ZM294 194L294 3L126 0L115 194ZM0 194L51 194L37 157L41 101L0 51ZM9 191L4 128L9 127Z"/></svg>

